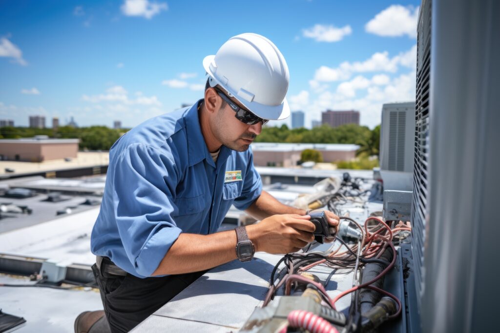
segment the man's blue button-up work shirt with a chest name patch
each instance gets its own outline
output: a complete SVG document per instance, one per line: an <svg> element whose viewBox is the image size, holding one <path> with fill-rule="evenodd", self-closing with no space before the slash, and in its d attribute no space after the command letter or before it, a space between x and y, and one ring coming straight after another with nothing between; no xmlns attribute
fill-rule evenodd
<svg viewBox="0 0 500 333"><path fill-rule="evenodd" d="M216 232L231 205L244 210L262 191L251 149L222 146L213 162L201 101L143 122L109 150L90 248L136 277L151 276L180 233Z"/></svg>

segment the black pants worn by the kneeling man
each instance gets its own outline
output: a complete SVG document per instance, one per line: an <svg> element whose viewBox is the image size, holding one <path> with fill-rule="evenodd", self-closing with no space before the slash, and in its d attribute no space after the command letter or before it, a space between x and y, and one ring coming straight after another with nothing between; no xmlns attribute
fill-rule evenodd
<svg viewBox="0 0 500 333"><path fill-rule="evenodd" d="M140 279L131 274L109 275L103 267L99 271L94 264L92 272L113 333L130 331L205 273Z"/></svg>

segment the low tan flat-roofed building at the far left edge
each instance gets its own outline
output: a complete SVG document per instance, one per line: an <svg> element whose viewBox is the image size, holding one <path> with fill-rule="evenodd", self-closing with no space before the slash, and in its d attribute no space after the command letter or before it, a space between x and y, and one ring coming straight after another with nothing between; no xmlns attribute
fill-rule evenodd
<svg viewBox="0 0 500 333"><path fill-rule="evenodd" d="M78 139L49 139L46 135L0 139L0 160L42 162L76 157L78 143Z"/></svg>

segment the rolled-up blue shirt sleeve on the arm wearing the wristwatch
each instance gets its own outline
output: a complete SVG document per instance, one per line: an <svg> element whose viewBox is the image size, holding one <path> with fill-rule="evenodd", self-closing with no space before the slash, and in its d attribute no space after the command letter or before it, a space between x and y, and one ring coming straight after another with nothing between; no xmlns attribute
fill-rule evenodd
<svg viewBox="0 0 500 333"><path fill-rule="evenodd" d="M181 233L170 216L177 179L167 150L132 144L114 163L118 233L128 260L142 276L152 275Z"/></svg>

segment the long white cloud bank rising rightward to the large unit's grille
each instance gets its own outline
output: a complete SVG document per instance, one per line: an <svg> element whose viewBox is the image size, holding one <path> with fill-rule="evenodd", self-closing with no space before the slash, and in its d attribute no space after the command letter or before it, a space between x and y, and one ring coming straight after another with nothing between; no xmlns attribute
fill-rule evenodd
<svg viewBox="0 0 500 333"><path fill-rule="evenodd" d="M408 51L389 58L387 51L373 53L364 61L342 62L338 67L331 68L320 66L314 73L314 81L331 82L348 79L352 73L359 72L391 72L398 70L399 66L415 68L416 67L416 45L413 45Z"/></svg>

